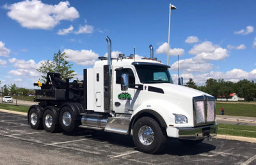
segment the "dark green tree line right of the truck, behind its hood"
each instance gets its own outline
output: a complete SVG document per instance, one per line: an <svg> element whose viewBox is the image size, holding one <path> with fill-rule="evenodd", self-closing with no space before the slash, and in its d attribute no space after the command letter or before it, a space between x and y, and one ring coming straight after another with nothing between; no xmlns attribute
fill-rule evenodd
<svg viewBox="0 0 256 165"><path fill-rule="evenodd" d="M237 83L231 81L225 81L224 79L207 79L205 86L197 86L193 79L189 79L185 86L194 88L196 90L209 93L215 98L231 98L231 93L236 93L238 97L244 98L244 100L250 102L256 99L256 83L254 81L248 81L243 79Z"/></svg>

